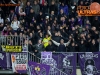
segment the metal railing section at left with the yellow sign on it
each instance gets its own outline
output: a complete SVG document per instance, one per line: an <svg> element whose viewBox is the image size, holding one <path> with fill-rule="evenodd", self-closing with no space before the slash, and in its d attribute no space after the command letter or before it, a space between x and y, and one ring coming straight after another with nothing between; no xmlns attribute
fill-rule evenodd
<svg viewBox="0 0 100 75"><path fill-rule="evenodd" d="M11 54L16 52L21 54L26 53L28 58L28 36L1 35L0 54L5 55L6 69L12 69Z"/></svg>

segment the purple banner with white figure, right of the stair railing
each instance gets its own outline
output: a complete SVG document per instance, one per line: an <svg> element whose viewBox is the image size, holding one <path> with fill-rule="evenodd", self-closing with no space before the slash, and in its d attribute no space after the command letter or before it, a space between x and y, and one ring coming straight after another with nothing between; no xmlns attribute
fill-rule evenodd
<svg viewBox="0 0 100 75"><path fill-rule="evenodd" d="M76 75L76 54L75 53L60 53L53 54L53 59L57 63L57 68L68 75Z"/></svg>

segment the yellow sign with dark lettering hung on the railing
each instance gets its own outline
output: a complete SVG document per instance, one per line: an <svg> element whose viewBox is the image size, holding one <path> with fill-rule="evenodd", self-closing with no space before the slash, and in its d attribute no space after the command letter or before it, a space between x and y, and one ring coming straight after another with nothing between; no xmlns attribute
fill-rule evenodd
<svg viewBox="0 0 100 75"><path fill-rule="evenodd" d="M22 52L22 46L2 45L2 50L5 52Z"/></svg>

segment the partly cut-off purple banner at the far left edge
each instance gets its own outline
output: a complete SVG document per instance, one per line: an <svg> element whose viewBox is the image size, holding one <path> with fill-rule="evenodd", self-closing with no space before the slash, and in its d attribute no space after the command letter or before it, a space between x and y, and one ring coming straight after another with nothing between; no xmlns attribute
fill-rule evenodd
<svg viewBox="0 0 100 75"><path fill-rule="evenodd" d="M7 59L5 52L0 52L0 67L3 69L7 69Z"/></svg>

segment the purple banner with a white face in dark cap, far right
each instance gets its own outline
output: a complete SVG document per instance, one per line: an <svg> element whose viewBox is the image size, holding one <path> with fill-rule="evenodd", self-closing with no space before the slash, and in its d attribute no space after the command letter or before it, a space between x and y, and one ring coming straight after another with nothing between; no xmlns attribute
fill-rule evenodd
<svg viewBox="0 0 100 75"><path fill-rule="evenodd" d="M82 75L100 75L100 52L78 54Z"/></svg>

